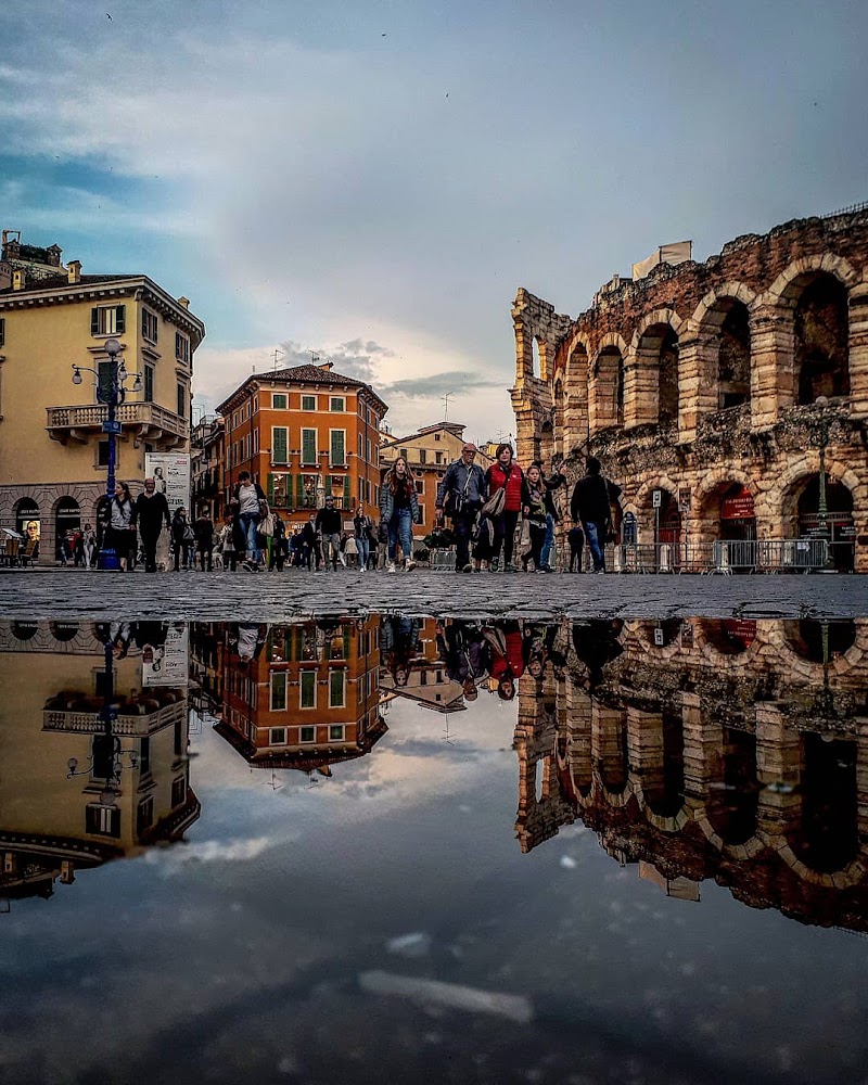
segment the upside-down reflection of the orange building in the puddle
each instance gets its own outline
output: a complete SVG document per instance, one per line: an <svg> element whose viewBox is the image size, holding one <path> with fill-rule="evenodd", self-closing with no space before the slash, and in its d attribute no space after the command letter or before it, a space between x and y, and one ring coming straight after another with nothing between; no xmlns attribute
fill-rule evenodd
<svg viewBox="0 0 868 1085"><path fill-rule="evenodd" d="M224 630L215 730L254 767L318 770L370 751L379 713L379 620Z"/></svg>

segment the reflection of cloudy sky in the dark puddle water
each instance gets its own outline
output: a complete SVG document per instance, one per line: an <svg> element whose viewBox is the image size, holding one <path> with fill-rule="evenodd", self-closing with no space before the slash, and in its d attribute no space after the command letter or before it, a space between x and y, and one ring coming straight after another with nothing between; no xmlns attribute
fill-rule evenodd
<svg viewBox="0 0 868 1085"><path fill-rule="evenodd" d="M205 724L187 844L0 917L8 1080L860 1080L868 943L709 881L667 898L580 822L521 854L515 710L481 695L447 741L396 699L315 786ZM383 973L533 1020L359 982Z"/></svg>

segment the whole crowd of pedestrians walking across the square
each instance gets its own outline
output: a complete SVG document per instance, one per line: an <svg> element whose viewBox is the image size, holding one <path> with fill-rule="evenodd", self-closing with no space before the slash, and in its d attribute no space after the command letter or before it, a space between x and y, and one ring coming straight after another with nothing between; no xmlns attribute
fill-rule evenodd
<svg viewBox="0 0 868 1085"><path fill-rule="evenodd" d="M529 572L533 567L539 573L554 572L554 533L561 514L553 495L567 484L562 467L553 465L547 474L536 460L523 470L508 444L498 445L487 470L476 463L476 455L475 445L467 443L437 487L437 525L441 529L446 519L451 523L456 571L515 572L521 567ZM593 571L605 572L605 544L614 539L612 505L620 494L621 487L603 477L600 461L588 457L569 502L570 572L582 572L585 546ZM215 525L207 506L197 510L195 519L182 507L171 511L154 478L145 478L135 500L127 483L118 482L114 496L100 502L98 531L88 524L69 532L60 542L60 558L62 564L72 560L91 566L102 547L114 551L124 571L133 569L138 559L145 572L154 573L165 529L175 572L196 567L203 572L215 567L278 573L346 567L411 571L416 567L412 528L422 518L404 456L385 473L378 511L374 520L359 502L347 523L334 498L327 496L322 508L311 511L304 524L293 525L269 508L250 472L241 471L230 492L226 519Z"/></svg>

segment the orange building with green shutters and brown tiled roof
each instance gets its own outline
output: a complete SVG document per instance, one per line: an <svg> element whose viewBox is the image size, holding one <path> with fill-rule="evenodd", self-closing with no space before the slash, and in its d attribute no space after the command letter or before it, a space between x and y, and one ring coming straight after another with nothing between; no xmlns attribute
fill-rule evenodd
<svg viewBox="0 0 868 1085"><path fill-rule="evenodd" d="M290 523L306 521L327 496L349 514L359 501L379 502L388 407L331 362L256 373L217 410L226 420L227 500L239 472L250 471Z"/></svg>

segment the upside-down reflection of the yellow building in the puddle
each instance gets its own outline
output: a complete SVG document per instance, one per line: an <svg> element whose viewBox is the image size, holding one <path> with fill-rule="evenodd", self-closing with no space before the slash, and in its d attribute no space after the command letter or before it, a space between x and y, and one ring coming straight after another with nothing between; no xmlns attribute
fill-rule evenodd
<svg viewBox="0 0 868 1085"><path fill-rule="evenodd" d="M112 664L106 763L105 647L75 623L0 624L0 897L50 896L58 879L183 839L200 803L190 787L187 693L142 686L130 646ZM76 775L67 778L67 771Z"/></svg>

